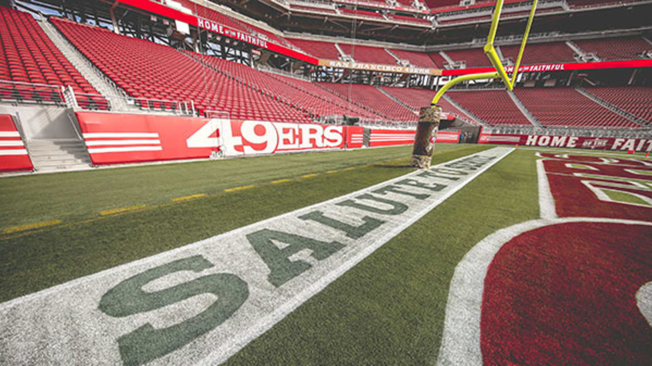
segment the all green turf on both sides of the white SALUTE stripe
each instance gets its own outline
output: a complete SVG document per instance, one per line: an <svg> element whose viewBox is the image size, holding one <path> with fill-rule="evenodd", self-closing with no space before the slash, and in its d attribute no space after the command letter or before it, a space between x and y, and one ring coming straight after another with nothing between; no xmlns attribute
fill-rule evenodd
<svg viewBox="0 0 652 366"><path fill-rule="evenodd" d="M438 145L433 163L490 147ZM1 212L3 229L63 220L0 236L0 301L404 175L412 170L407 166L410 148L0 180L0 195L8 203ZM228 363L434 363L449 281L458 261L484 236L538 217L536 159L534 150L512 152ZM349 167L357 169L346 170ZM327 173L333 170L338 171ZM314 173L318 175L301 178ZM284 181L271 184L276 180ZM251 184L254 187L246 190L224 191ZM171 201L198 193L207 197ZM147 206L106 217L98 214L134 204Z"/></svg>

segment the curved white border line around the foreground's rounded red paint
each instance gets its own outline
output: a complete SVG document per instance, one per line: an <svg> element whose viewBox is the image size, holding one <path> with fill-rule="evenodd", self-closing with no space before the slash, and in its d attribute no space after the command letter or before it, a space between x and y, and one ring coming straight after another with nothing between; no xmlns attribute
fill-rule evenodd
<svg viewBox="0 0 652 366"><path fill-rule="evenodd" d="M652 226L651 222L625 219L536 219L501 229L482 239L466 253L451 279L437 365L482 365L480 320L484 278L501 247L524 232L558 223L575 222Z"/></svg>

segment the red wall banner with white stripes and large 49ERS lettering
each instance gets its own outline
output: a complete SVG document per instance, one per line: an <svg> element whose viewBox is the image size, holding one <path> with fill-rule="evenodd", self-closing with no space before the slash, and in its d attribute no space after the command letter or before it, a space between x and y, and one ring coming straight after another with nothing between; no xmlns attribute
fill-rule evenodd
<svg viewBox="0 0 652 366"><path fill-rule="evenodd" d="M361 147L363 129L259 120L76 113L95 165ZM350 134L349 130L351 131ZM350 136L350 137L349 137Z"/></svg>

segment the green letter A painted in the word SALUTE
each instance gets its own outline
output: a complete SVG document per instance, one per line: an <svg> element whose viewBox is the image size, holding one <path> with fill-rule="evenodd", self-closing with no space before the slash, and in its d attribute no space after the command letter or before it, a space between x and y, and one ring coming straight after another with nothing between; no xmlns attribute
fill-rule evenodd
<svg viewBox="0 0 652 366"><path fill-rule="evenodd" d="M247 234L246 238L263 262L267 264L267 268L270 270L267 281L275 287L280 287L312 267L310 263L303 260L289 260L289 257L295 253L303 249L310 249L312 250L311 257L323 260L344 247L344 244L339 242L320 242L305 236L270 229L252 232ZM273 240L289 245L280 249Z"/></svg>

